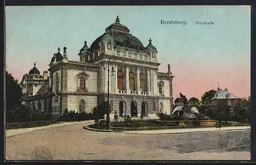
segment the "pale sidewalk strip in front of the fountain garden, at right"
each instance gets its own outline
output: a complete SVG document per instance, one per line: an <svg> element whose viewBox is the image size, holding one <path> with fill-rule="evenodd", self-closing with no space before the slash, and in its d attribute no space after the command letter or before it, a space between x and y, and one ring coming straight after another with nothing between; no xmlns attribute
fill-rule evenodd
<svg viewBox="0 0 256 165"><path fill-rule="evenodd" d="M124 131L120 133L134 133L134 134L167 134L167 133L184 133L184 132L211 132L211 131L228 131L228 130L243 130L251 129L250 126L240 126L240 127L221 127L217 129L216 127L208 128L186 128L186 129L162 129L162 130L145 130L145 131Z"/></svg>

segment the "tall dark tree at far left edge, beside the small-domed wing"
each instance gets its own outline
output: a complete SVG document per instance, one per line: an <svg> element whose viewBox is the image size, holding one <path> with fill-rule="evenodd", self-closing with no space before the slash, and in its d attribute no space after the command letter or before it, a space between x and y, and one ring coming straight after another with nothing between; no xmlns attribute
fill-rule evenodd
<svg viewBox="0 0 256 165"><path fill-rule="evenodd" d="M6 114L7 119L12 120L12 117L17 115L17 109L21 106L20 100L22 99L22 88L15 80L12 74L6 71ZM15 120L15 119L14 119Z"/></svg>

